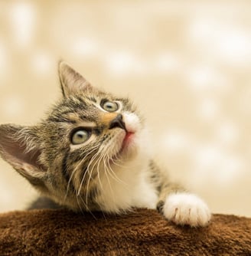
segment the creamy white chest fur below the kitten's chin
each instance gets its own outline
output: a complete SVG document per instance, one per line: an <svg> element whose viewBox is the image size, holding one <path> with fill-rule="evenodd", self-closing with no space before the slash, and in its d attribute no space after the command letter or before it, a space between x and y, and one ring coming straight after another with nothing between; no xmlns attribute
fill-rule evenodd
<svg viewBox="0 0 251 256"><path fill-rule="evenodd" d="M144 162L142 162L144 161ZM105 212L123 212L132 207L155 208L157 192L148 179L148 161L135 159L103 174L99 205Z"/></svg>

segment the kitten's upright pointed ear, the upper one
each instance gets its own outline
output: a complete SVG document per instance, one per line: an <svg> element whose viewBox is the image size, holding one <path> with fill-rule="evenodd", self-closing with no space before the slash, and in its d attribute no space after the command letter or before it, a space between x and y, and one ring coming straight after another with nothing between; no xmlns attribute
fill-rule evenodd
<svg viewBox="0 0 251 256"><path fill-rule="evenodd" d="M58 73L64 97L69 97L71 94L80 94L85 90L91 90L93 88L84 77L77 71L74 71L64 61L59 62Z"/></svg>

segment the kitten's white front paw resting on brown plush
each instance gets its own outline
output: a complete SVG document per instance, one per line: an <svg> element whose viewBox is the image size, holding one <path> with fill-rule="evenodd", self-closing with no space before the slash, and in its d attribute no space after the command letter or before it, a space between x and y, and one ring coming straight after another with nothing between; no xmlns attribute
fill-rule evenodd
<svg viewBox="0 0 251 256"><path fill-rule="evenodd" d="M206 203L189 193L171 194L163 208L165 218L177 225L202 227L210 221L210 210Z"/></svg>

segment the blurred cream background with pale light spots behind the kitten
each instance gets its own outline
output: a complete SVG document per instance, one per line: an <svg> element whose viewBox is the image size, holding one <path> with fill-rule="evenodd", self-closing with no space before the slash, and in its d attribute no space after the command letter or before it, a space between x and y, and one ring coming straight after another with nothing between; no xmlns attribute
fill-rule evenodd
<svg viewBox="0 0 251 256"><path fill-rule="evenodd" d="M60 59L135 100L172 179L251 217L250 1L0 1L0 123L44 117ZM0 212L36 197L2 159L0 176Z"/></svg>

